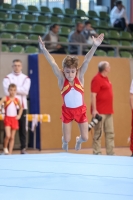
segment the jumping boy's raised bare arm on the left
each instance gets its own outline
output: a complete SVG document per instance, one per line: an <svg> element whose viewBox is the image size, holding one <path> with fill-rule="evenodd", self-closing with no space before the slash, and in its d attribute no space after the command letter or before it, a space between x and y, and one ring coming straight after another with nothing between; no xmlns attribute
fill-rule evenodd
<svg viewBox="0 0 133 200"><path fill-rule="evenodd" d="M64 81L64 76L63 76L63 73L62 71L59 69L58 65L56 64L54 58L50 55L50 53L47 51L47 49L45 48L45 45L44 43L42 42L42 39L41 37L39 36L39 45L40 45L40 48L45 56L45 58L47 59L47 61L49 62L49 64L51 65L52 67L52 70L55 74L55 76L58 78L59 82L60 81Z"/></svg>

